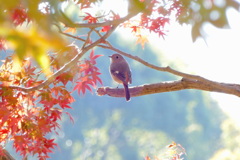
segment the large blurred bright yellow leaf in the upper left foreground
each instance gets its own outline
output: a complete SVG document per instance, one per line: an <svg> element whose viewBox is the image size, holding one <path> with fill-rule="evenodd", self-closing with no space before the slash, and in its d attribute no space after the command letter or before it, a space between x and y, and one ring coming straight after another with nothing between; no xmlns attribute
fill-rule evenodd
<svg viewBox="0 0 240 160"><path fill-rule="evenodd" d="M1 30L1 27L0 27ZM45 32L35 25L28 30L9 29L5 32L7 41L19 61L26 57L33 57L46 75L51 74L50 59L47 55L49 50L59 51L66 46L65 41L53 32ZM17 70L18 63L14 70Z"/></svg>

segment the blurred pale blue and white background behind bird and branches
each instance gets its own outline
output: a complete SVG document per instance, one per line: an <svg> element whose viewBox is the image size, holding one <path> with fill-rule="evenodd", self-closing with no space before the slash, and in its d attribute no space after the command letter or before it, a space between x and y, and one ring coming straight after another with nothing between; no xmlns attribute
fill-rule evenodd
<svg viewBox="0 0 240 160"><path fill-rule="evenodd" d="M106 4L109 4L106 1ZM115 3L115 1L114 1ZM119 4L115 3L116 12ZM124 5L124 4L121 4ZM107 5L106 5L107 6ZM112 7L112 6L111 6ZM74 9L68 10L74 14ZM143 50L131 31L118 29L108 40L113 46L158 65L228 83L240 83L239 12L228 9L230 29L204 24L205 40L192 42L191 26L172 21L165 40L150 35ZM109 55L95 48L104 86L117 87L109 74ZM152 70L126 58L137 85L179 80L181 77ZM99 85L100 87L100 85ZM122 86L120 86L122 87ZM63 117L57 139L56 160L138 160L147 155L168 159L167 146L181 144L187 160L240 159L240 99L220 93L183 90L125 98L74 93L76 102L68 110L74 118ZM11 149L11 146L8 146Z"/></svg>

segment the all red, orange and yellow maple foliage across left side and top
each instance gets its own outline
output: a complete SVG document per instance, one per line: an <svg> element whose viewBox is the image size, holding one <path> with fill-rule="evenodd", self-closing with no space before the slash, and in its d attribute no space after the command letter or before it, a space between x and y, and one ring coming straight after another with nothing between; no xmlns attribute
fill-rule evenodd
<svg viewBox="0 0 240 160"><path fill-rule="evenodd" d="M179 23L189 23L195 14L190 0L129 0L126 17L113 11L100 15L85 11L96 3L101 1L73 0L71 4L82 14L75 21L57 7L63 1L0 2L4 11L0 16L4 59L0 67L0 154L13 141L14 149L23 158L49 158L57 144L47 135L58 134L62 114L74 122L67 112L74 102L71 94L84 96L86 91L93 93L98 84L103 85L96 67L101 55L94 53L94 47L111 49L106 39L116 27L130 29L136 43L144 48L148 34L160 38L167 35L165 26L171 15ZM198 22L193 28L194 40L201 36L200 27ZM89 56L83 58L85 53Z"/></svg>

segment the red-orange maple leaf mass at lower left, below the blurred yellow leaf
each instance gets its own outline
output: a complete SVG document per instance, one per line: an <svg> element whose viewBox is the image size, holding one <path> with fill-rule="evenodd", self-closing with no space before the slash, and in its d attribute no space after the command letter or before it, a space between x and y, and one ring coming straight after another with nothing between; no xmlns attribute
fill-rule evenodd
<svg viewBox="0 0 240 160"><path fill-rule="evenodd" d="M39 158L48 158L47 154L57 145L54 139L46 138L46 135L56 132L59 128L58 121L62 113L67 113L66 108L74 102L71 92L67 90L67 83L71 82L77 90L85 94L86 89L92 92L97 82L101 82L100 74L96 68L96 59L99 55L90 54L89 59L78 62L75 69L69 70L56 77L51 85L29 93L18 89L11 89L8 86L34 87L43 82L39 78L40 72L32 62L23 60L21 71L10 73L13 68L11 57L7 57L1 66L1 130L0 141L7 143L14 142L13 146L23 157L32 153L38 154ZM54 57L56 58L56 57ZM53 59L53 57L51 57ZM53 71L57 71L60 64L54 61L51 65ZM76 80L73 79L76 77ZM70 120L73 121L70 114Z"/></svg>

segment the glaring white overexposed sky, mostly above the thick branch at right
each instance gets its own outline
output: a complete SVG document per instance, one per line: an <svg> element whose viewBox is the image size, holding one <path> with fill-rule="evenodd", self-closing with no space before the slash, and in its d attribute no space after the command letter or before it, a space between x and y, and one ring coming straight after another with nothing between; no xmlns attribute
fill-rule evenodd
<svg viewBox="0 0 240 160"><path fill-rule="evenodd" d="M127 2L105 0L104 9L112 9L121 17L127 14ZM122 6L122 7L120 7ZM192 42L191 26L179 25L171 21L165 40L152 35L149 44L154 52L164 53L167 62L184 64L180 71L196 74L207 79L240 84L240 13L228 9L230 29L218 29L210 24L204 26L205 41L198 38ZM126 35L129 33L124 34ZM124 39L128 37L122 36ZM166 62L166 64L167 64ZM235 120L240 127L240 98L228 94L211 93L222 110Z"/></svg>

